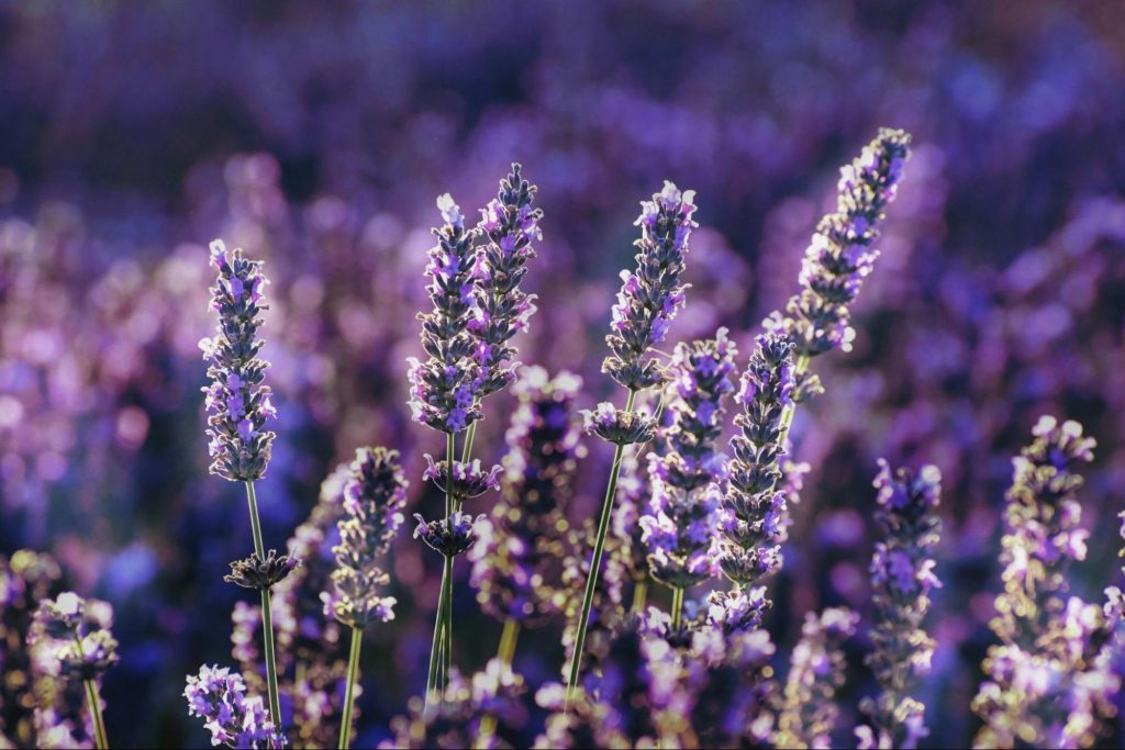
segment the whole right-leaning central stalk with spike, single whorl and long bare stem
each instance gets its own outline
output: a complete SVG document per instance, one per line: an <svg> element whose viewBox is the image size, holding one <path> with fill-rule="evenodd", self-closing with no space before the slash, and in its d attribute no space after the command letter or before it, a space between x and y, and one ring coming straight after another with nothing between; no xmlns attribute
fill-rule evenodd
<svg viewBox="0 0 1125 750"><path fill-rule="evenodd" d="M612 329L605 337L611 353L602 363L602 371L624 386L629 396L623 410L602 403L596 412L586 413L587 431L615 448L578 615L567 681L567 705L578 686L590 611L597 588L624 449L633 443L648 442L655 432L652 419L634 413L633 406L639 391L664 381L662 368L650 356L650 350L665 340L673 318L684 305L684 255L692 228L696 226L692 220L694 198L695 191L681 192L672 182L665 182L664 189L654 195L652 200L641 201L641 214L637 219L641 236L634 243L639 251L636 255L637 270L634 273L621 272L623 283L618 292L618 304L613 306Z"/></svg>

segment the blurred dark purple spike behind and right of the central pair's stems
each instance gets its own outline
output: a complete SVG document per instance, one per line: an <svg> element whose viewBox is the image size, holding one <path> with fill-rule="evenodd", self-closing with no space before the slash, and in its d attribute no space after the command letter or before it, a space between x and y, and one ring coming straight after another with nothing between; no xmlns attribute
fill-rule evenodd
<svg viewBox="0 0 1125 750"><path fill-rule="evenodd" d="M562 513L583 454L574 414L582 379L550 378L525 368L513 386L519 407L506 434L501 500L478 526L469 551L471 585L480 606L497 620L526 622L556 614L560 561L569 528Z"/></svg>

